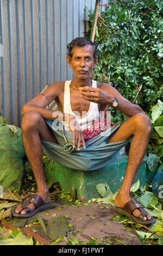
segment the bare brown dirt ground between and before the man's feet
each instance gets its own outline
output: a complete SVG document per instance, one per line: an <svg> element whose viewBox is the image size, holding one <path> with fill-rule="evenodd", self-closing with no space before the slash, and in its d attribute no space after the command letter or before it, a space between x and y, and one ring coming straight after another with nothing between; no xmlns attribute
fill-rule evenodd
<svg viewBox="0 0 163 256"><path fill-rule="evenodd" d="M41 211L39 215L45 222L49 221L54 214L56 217L60 215L70 216L70 220L66 220L67 224L73 225L73 227L69 228L69 231L80 231L78 231L76 236L69 234L67 238L69 236L73 238L76 237L79 241L87 242L90 240L90 237L94 237L97 239L96 241L100 242L102 238L108 239L114 237L126 245L141 245L139 237L133 236L136 235L134 230L128 230L128 228L123 229L124 225L122 223L112 220L112 217L115 217L117 213L114 207L110 205L90 203L88 206L68 205L67 207L62 207L65 206L65 204L56 202L53 202L53 204L56 205L55 208ZM105 206L107 208L105 208ZM35 216L28 218L26 225L28 225L33 218L35 218ZM39 234L43 236L41 231ZM122 243L114 239L111 241L112 245L122 245ZM66 245L66 240L62 239L58 245Z"/></svg>

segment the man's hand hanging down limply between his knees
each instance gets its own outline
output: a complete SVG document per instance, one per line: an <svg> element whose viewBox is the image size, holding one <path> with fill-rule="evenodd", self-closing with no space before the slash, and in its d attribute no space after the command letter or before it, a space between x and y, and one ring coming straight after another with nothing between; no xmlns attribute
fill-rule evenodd
<svg viewBox="0 0 163 256"><path fill-rule="evenodd" d="M73 141L72 147L74 148L75 145L77 145L77 150L79 151L82 143L83 148L85 149L85 141L83 138L83 133L78 125L76 118L74 118L72 115L68 115L67 123L70 127L70 130L72 131L72 141Z"/></svg>

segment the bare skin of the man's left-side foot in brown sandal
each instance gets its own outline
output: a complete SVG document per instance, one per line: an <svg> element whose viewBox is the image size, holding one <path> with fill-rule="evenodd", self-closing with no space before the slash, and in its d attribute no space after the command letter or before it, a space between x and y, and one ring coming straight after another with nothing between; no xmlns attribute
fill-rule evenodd
<svg viewBox="0 0 163 256"><path fill-rule="evenodd" d="M37 193L37 195L39 195L42 200L43 200L43 203L49 203L50 202L50 195L49 195L49 192L41 192L41 193ZM27 208L30 209L30 211L34 211L34 209L36 208L36 205L34 203L29 203L27 205ZM22 205L18 205L16 210L15 210L16 214L20 214L20 215L25 215L27 214L26 210L22 208Z"/></svg>

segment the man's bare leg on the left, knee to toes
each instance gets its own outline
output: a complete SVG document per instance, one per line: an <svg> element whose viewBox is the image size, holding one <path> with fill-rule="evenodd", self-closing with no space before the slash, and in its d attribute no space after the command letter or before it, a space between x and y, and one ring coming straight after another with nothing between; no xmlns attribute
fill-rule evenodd
<svg viewBox="0 0 163 256"><path fill-rule="evenodd" d="M35 111L29 111L23 115L21 128L26 155L37 183L37 194L43 199L44 203L48 203L50 196L43 169L41 139L58 144L57 139L55 139L42 116ZM30 203L28 208L33 211L35 204ZM15 212L26 214L26 210L22 210L21 205L16 208Z"/></svg>

